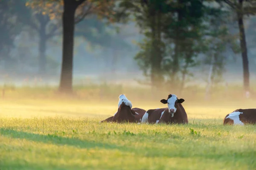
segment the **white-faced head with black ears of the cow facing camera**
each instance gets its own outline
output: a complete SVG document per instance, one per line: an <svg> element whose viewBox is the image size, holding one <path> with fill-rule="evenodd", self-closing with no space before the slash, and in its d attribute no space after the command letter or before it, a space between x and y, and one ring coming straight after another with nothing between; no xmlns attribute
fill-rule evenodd
<svg viewBox="0 0 256 170"><path fill-rule="evenodd" d="M163 104L168 105L168 110L169 113L172 113L172 117L174 116L174 113L177 111L177 105L178 103L183 103L185 100L184 99L178 99L175 94L169 94L168 99L162 99L160 102Z"/></svg>

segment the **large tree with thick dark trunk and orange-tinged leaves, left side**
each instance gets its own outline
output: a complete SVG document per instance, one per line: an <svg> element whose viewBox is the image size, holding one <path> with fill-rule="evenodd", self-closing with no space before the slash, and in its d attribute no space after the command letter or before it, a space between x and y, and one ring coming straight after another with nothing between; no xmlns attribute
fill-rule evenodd
<svg viewBox="0 0 256 170"><path fill-rule="evenodd" d="M60 77L60 92L72 93L73 81L73 47L74 47L74 28L75 23L79 23L89 14L108 16L109 9L112 7L111 0L33 0L30 6L43 6L50 14L54 14L53 8L63 6L62 26L63 26L63 45L62 45L62 64ZM50 10L49 10L50 8ZM77 17L75 19L75 14Z"/></svg>

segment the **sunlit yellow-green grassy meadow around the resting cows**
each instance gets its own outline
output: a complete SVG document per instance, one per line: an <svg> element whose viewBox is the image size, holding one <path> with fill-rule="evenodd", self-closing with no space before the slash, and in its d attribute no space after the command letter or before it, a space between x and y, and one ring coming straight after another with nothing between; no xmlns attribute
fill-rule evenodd
<svg viewBox="0 0 256 170"><path fill-rule="evenodd" d="M117 110L118 94L133 107L165 107L146 91L77 88L6 90L0 99L0 170L255 170L256 128L223 126L226 114L255 100L204 101L184 96L188 125L99 123ZM144 94L142 99L135 95ZM162 95L162 96L161 96ZM90 96L90 97L84 97Z"/></svg>

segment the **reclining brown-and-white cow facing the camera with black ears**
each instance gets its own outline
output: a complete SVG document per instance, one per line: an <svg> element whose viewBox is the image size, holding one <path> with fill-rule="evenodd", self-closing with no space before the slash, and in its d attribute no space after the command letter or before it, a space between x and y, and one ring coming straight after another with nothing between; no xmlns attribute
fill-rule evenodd
<svg viewBox="0 0 256 170"><path fill-rule="evenodd" d="M185 109L181 105L185 100L178 99L175 94L169 94L168 99L162 99L160 102L167 104L168 108L158 108L148 110L141 123L167 123L167 124L185 124L188 118Z"/></svg>

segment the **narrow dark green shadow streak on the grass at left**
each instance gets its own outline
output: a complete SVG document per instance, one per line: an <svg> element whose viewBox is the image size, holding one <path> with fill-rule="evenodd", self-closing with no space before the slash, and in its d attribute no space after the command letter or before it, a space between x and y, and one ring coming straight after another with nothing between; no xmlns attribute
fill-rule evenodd
<svg viewBox="0 0 256 170"><path fill-rule="evenodd" d="M2 136L9 136L16 139L27 139L34 142L43 142L46 144L57 144L57 145L69 145L73 147L79 148L105 148L105 149L125 149L119 148L115 144L107 144L107 143L100 143L100 142L93 142L87 140L81 140L78 138L68 138L63 136L56 136L56 135L41 135L35 133L27 133L17 130L5 129L0 128L0 135ZM126 149L127 150L127 149Z"/></svg>

